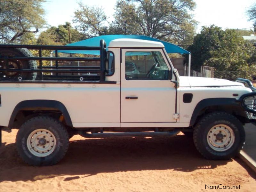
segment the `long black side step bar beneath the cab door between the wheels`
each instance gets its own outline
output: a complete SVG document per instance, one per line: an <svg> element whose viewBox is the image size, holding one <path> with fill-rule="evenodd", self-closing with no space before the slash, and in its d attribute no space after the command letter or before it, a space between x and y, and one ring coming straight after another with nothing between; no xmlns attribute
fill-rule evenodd
<svg viewBox="0 0 256 192"><path fill-rule="evenodd" d="M79 131L78 134L85 138L109 138L109 137L172 137L180 131L166 131L166 132L113 132L113 133L86 133Z"/></svg>

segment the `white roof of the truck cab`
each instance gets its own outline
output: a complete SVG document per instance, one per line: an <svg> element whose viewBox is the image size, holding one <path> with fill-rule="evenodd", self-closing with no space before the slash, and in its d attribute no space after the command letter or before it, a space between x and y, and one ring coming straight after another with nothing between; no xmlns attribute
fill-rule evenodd
<svg viewBox="0 0 256 192"><path fill-rule="evenodd" d="M156 41L141 39L115 39L110 41L108 47L157 47L164 48L164 44Z"/></svg>

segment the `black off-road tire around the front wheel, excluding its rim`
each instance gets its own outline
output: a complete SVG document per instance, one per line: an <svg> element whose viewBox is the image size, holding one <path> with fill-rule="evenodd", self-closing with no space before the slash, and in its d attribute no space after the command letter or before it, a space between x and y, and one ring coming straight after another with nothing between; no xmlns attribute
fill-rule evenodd
<svg viewBox="0 0 256 192"><path fill-rule="evenodd" d="M226 125L232 129L235 137L233 144L226 151L212 149L208 134L215 125ZM193 140L199 153L206 159L229 160L240 152L245 141L245 132L242 123L233 115L225 112L214 112L202 117L194 128Z"/></svg>

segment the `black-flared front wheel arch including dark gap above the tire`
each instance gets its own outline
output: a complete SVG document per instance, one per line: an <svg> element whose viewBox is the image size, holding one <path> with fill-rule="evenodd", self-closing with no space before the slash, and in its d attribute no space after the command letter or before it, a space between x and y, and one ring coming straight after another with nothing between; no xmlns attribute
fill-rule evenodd
<svg viewBox="0 0 256 192"><path fill-rule="evenodd" d="M247 122L248 115L235 98L209 98L197 103L190 119L189 126L194 126L204 113L223 111L236 116L243 123Z"/></svg>

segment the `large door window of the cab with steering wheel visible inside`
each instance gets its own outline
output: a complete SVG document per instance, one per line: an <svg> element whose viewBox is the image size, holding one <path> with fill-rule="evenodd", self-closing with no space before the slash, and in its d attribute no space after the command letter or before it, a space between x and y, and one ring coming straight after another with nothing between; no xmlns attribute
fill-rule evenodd
<svg viewBox="0 0 256 192"><path fill-rule="evenodd" d="M168 80L169 69L159 51L126 52L126 80Z"/></svg>

